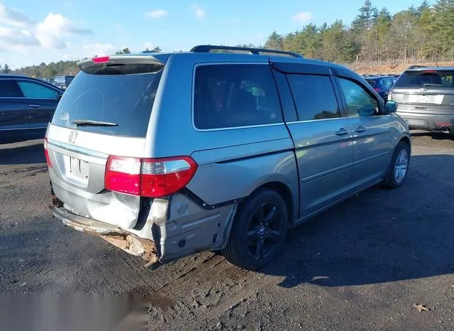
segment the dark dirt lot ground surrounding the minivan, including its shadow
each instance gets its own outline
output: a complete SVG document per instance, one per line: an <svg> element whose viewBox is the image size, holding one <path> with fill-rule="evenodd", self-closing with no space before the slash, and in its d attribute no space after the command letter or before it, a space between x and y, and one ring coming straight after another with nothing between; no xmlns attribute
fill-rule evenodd
<svg viewBox="0 0 454 331"><path fill-rule="evenodd" d="M372 188L303 224L262 273L210 252L147 271L63 227L46 207L40 143L0 146L1 294L146 295L150 330L454 329L454 141L446 136L415 134L404 188Z"/></svg>

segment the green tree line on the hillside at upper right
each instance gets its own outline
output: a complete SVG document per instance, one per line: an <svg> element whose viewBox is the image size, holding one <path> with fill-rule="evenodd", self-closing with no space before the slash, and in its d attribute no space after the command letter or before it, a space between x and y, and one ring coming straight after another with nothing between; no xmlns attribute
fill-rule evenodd
<svg viewBox="0 0 454 331"><path fill-rule="evenodd" d="M273 32L265 48L292 50L336 63L398 63L454 60L454 0L422 1L391 15L366 0L350 26L308 24L299 31Z"/></svg>

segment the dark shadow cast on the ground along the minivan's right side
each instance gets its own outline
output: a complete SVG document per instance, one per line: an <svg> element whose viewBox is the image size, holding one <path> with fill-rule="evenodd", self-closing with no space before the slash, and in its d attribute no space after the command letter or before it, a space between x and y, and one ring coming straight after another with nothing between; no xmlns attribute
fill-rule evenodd
<svg viewBox="0 0 454 331"><path fill-rule="evenodd" d="M453 155L413 156L406 183L372 188L287 236L262 271L279 284L352 286L454 273Z"/></svg>

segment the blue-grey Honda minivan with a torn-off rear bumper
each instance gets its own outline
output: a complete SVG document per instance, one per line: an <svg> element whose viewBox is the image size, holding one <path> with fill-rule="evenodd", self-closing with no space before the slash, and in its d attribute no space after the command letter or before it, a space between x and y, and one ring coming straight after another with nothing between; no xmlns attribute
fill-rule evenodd
<svg viewBox="0 0 454 331"><path fill-rule="evenodd" d="M52 212L146 266L210 249L262 268L288 229L406 178L397 105L345 67L206 45L78 65L45 139Z"/></svg>

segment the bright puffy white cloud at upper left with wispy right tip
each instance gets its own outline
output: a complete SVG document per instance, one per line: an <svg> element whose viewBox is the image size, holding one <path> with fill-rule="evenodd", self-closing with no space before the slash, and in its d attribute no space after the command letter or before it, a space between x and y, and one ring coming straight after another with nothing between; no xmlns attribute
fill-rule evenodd
<svg viewBox="0 0 454 331"><path fill-rule="evenodd" d="M48 13L43 22L37 24L35 36L44 48L66 48L65 37L93 33L90 29L79 28L60 13Z"/></svg>

